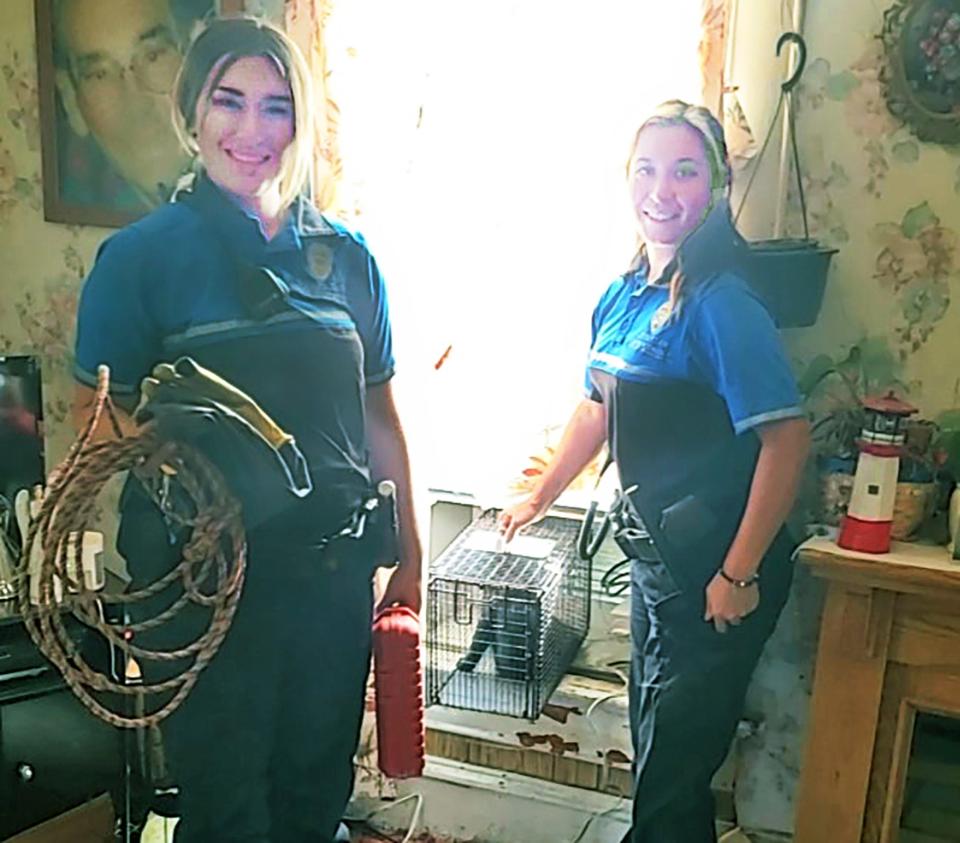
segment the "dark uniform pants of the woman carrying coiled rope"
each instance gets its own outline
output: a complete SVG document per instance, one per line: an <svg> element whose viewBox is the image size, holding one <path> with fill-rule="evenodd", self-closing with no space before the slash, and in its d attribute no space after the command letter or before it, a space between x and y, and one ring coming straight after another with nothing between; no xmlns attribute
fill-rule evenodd
<svg viewBox="0 0 960 843"><path fill-rule="evenodd" d="M176 843L329 843L353 789L372 566L251 542L220 651L163 724Z"/></svg>

